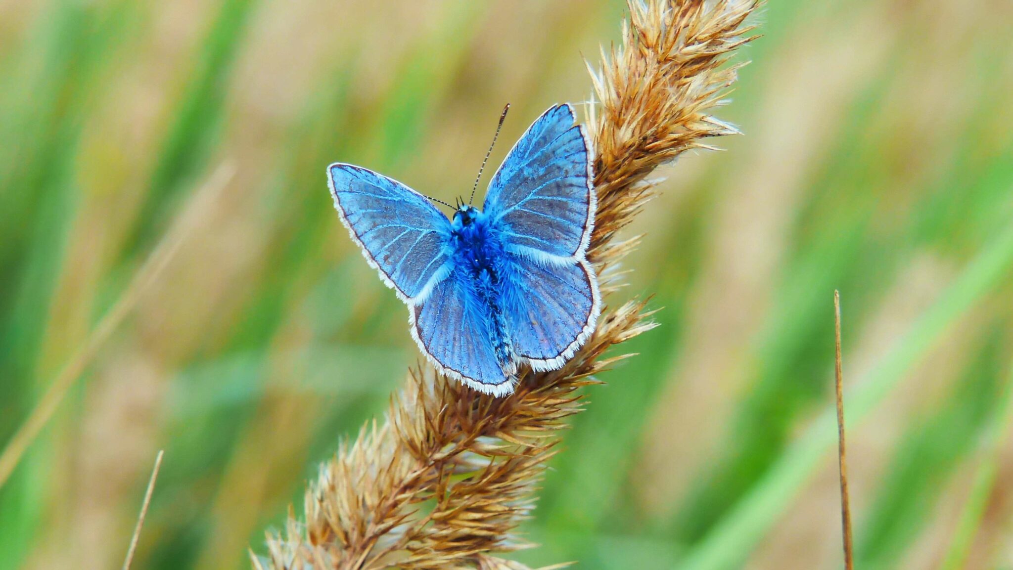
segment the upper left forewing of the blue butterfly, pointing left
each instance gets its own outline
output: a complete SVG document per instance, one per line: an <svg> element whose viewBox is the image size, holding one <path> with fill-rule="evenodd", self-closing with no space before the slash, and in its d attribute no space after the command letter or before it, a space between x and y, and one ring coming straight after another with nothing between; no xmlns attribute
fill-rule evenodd
<svg viewBox="0 0 1013 570"><path fill-rule="evenodd" d="M425 196L386 176L331 164L334 209L370 265L408 305L450 272L450 221Z"/></svg>

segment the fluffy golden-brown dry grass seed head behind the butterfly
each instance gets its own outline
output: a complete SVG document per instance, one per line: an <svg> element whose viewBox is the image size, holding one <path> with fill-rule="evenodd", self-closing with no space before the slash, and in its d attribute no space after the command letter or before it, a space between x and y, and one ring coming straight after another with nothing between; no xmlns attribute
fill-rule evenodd
<svg viewBox="0 0 1013 570"><path fill-rule="evenodd" d="M710 137L737 133L709 113L735 79L727 60L753 38L746 19L756 8L757 0L631 2L622 46L603 53L600 70L589 66L598 214L588 257L603 295L622 284L616 267L638 242L617 234L650 197L646 177L689 149L711 148ZM581 409L578 389L624 357L604 354L650 329L647 318L642 301L606 309L562 370L522 373L506 398L413 371L386 421L365 426L320 467L305 520L292 514L284 534L268 535L254 567L525 568L491 553L530 546L516 531L566 418Z"/></svg>

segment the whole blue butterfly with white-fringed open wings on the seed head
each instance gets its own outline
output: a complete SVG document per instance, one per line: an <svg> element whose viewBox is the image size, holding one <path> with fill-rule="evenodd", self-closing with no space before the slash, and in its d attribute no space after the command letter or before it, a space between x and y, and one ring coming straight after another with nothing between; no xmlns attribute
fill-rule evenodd
<svg viewBox="0 0 1013 570"><path fill-rule="evenodd" d="M558 370L595 330L592 151L569 104L525 132L481 211L462 205L453 220L372 170L335 163L327 173L341 222L408 306L412 338L444 375L510 394L520 365Z"/></svg>

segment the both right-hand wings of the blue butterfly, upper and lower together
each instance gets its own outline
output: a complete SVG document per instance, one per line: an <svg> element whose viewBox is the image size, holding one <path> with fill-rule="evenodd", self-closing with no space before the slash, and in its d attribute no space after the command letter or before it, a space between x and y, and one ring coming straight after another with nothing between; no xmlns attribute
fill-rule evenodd
<svg viewBox="0 0 1013 570"><path fill-rule="evenodd" d="M597 208L591 146L556 105L521 137L489 182L485 212L513 259L503 292L514 351L555 370L595 328L601 296L585 253Z"/></svg>

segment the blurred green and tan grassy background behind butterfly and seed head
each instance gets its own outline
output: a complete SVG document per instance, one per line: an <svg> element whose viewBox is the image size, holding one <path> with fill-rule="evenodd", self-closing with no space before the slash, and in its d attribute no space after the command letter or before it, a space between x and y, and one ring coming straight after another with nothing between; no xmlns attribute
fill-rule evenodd
<svg viewBox="0 0 1013 570"><path fill-rule="evenodd" d="M0 489L0 570L119 567L160 449L134 568L248 567L418 358L325 165L452 200L503 103L493 166L589 98L581 55L624 14L0 0L0 447L190 221ZM746 136L659 172L631 230L622 295L661 326L588 390L518 558L838 568L840 289L858 567L1013 568L1013 4L771 0L756 22L719 110Z"/></svg>

